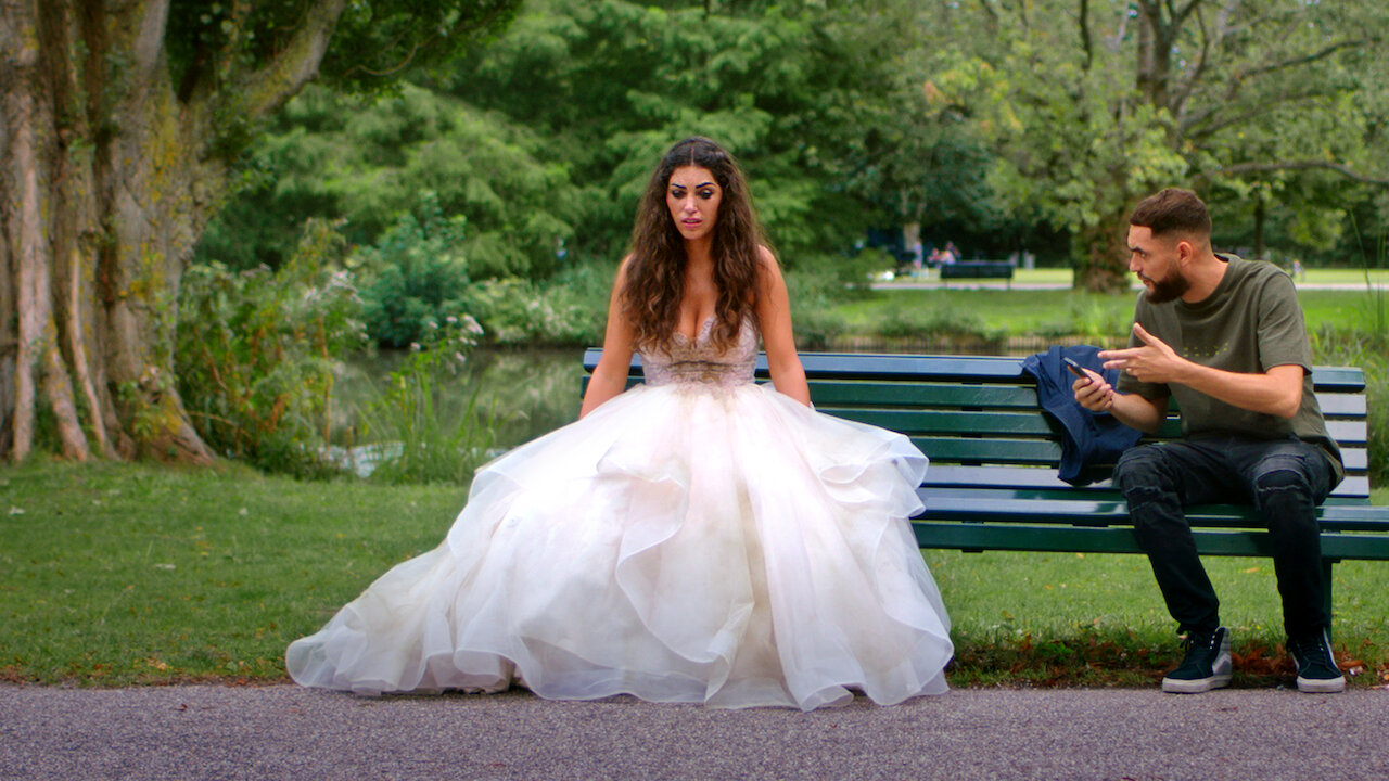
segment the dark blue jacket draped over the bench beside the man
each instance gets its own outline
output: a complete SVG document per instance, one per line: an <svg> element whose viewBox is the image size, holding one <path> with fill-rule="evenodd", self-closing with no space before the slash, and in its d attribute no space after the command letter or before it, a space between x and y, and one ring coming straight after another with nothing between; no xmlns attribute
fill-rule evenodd
<svg viewBox="0 0 1389 781"><path fill-rule="evenodd" d="M1114 416L1092 413L1075 400L1075 392L1071 390L1075 375L1061 363L1061 356L1096 371L1110 385L1117 385L1118 370L1104 368L1104 361L1096 356L1099 352L1099 347L1090 345L1053 346L1022 360L1022 370L1038 381L1038 404L1065 431L1057 477L1071 485L1108 479L1124 450L1143 436L1143 432L1124 425Z"/></svg>

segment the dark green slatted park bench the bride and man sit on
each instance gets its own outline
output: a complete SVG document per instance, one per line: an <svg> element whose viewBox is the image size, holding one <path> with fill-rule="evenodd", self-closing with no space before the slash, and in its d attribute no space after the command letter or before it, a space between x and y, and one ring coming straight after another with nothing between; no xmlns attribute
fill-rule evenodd
<svg viewBox="0 0 1389 781"><path fill-rule="evenodd" d="M583 356L592 372L601 354ZM921 548L1067 553L1142 553L1124 498L1108 482L1075 488L1057 477L1060 424L1038 406L1022 359L801 353L822 413L901 432L929 459L913 518ZM767 377L765 357L757 372ZM633 360L631 382L640 378ZM1342 559L1389 560L1389 506L1370 504L1364 374L1317 367L1313 382L1340 445L1346 479L1320 507L1328 610L1331 570ZM1179 436L1174 416L1156 436ZM1249 507L1188 513L1206 556L1271 556Z"/></svg>

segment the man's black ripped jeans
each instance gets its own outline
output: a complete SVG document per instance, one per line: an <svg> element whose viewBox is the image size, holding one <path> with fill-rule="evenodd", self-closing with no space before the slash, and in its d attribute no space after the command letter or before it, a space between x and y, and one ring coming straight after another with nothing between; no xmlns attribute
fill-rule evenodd
<svg viewBox="0 0 1389 781"><path fill-rule="evenodd" d="M1133 447L1114 470L1133 536L1153 564L1167 610L1183 631L1220 625L1220 599L1196 554L1185 507L1253 504L1268 527L1283 628L1300 636L1331 625L1324 606L1315 507L1335 488L1321 449L1300 439L1201 436Z"/></svg>

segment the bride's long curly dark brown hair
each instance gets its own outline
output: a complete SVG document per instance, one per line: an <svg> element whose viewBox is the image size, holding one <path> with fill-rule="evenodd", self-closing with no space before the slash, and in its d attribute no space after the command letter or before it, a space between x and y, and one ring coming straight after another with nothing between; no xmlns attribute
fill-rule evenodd
<svg viewBox="0 0 1389 781"><path fill-rule="evenodd" d="M622 314L632 324L639 349L667 350L675 335L685 286L685 239L665 204L671 174L685 165L707 168L724 190L714 222L711 254L718 289L711 339L726 347L738 340L753 309L757 247L765 245L761 225L738 161L707 138L688 138L665 153L636 208L632 260L622 288Z"/></svg>

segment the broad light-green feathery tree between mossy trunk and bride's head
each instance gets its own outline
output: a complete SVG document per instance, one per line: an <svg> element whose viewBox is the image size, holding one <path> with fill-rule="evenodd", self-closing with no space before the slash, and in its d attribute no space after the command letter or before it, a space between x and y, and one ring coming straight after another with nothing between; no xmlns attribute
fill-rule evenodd
<svg viewBox="0 0 1389 781"><path fill-rule="evenodd" d="M340 218L371 246L417 214L467 225L450 249L471 278L544 278L582 215L568 165L546 151L519 124L418 86L369 99L310 88L254 149L197 258L275 267L308 218Z"/></svg>

